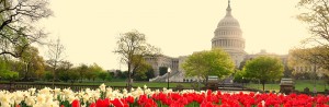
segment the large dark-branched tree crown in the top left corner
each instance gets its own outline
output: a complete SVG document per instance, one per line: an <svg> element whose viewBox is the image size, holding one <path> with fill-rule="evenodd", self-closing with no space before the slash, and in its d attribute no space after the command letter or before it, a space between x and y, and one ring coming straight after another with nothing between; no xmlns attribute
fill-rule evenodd
<svg viewBox="0 0 329 107"><path fill-rule="evenodd" d="M19 58L46 33L36 22L53 14L47 0L0 0L0 55Z"/></svg>

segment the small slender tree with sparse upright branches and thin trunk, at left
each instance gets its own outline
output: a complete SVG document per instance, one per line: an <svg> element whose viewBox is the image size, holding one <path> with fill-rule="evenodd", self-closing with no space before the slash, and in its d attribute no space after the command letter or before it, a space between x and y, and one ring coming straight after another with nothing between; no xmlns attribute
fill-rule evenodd
<svg viewBox="0 0 329 107"><path fill-rule="evenodd" d="M55 43L50 41L48 45L48 60L47 63L53 68L53 86L56 80L56 71L58 63L64 60L65 47L60 44L60 39L57 38Z"/></svg>

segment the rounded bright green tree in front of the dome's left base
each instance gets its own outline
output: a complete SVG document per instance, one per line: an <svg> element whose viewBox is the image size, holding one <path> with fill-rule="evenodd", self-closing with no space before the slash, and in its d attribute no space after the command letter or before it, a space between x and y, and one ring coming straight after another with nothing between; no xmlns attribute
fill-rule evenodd
<svg viewBox="0 0 329 107"><path fill-rule="evenodd" d="M193 52L183 63L186 76L197 76L207 82L208 75L219 79L234 72L234 62L229 55L222 49Z"/></svg>

